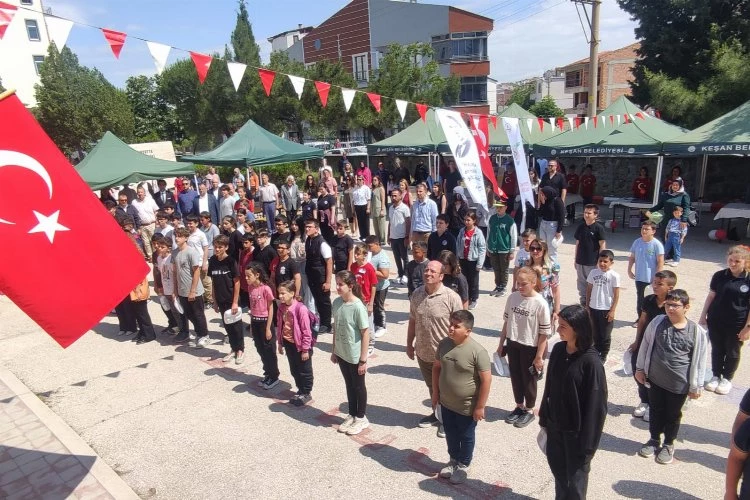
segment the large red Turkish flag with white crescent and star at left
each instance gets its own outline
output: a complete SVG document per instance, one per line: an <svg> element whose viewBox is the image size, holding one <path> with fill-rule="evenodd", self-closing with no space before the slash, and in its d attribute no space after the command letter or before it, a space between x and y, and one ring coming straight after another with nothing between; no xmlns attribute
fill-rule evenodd
<svg viewBox="0 0 750 500"><path fill-rule="evenodd" d="M0 290L62 347L149 271L15 95L0 96L0 239Z"/></svg>

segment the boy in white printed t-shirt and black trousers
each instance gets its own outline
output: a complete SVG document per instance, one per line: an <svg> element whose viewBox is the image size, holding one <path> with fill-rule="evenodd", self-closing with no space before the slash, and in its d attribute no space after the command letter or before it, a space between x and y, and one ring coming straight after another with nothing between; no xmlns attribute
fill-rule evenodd
<svg viewBox="0 0 750 500"><path fill-rule="evenodd" d="M594 329L594 348L599 351L602 363L607 361L615 309L620 300L620 275L612 270L614 260L612 250L600 251L596 268L586 279L586 305Z"/></svg>

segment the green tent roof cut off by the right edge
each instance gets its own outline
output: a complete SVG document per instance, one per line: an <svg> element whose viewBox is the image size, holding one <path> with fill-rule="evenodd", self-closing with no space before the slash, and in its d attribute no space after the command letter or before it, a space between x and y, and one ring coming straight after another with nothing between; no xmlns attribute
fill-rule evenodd
<svg viewBox="0 0 750 500"><path fill-rule="evenodd" d="M670 154L750 154L750 101L664 144Z"/></svg>

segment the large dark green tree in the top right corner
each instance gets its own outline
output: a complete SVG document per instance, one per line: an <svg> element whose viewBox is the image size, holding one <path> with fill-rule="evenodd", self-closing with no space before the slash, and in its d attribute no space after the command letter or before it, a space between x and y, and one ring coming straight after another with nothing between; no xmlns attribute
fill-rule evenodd
<svg viewBox="0 0 750 500"><path fill-rule="evenodd" d="M618 0L639 26L634 100L692 128L750 99L750 2Z"/></svg>

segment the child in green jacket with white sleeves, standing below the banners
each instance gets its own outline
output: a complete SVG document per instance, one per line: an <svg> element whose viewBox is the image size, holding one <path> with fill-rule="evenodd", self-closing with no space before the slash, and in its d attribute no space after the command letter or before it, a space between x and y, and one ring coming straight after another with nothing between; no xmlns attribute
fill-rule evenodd
<svg viewBox="0 0 750 500"><path fill-rule="evenodd" d="M507 200L496 201L495 213L490 217L487 228L487 253L495 273L495 289L490 292L492 297L505 297L508 294L508 267L518 244L518 229L507 211Z"/></svg>

